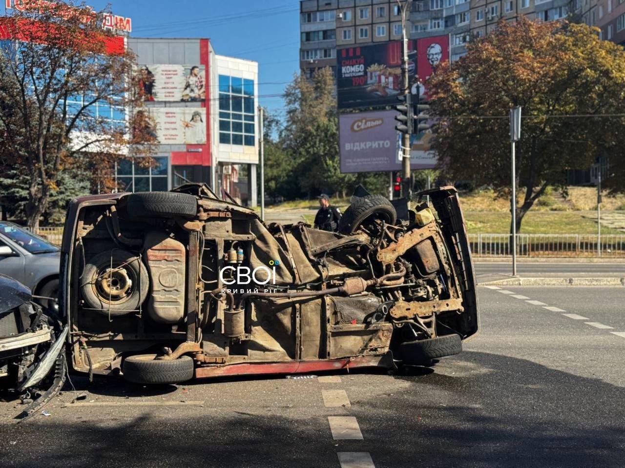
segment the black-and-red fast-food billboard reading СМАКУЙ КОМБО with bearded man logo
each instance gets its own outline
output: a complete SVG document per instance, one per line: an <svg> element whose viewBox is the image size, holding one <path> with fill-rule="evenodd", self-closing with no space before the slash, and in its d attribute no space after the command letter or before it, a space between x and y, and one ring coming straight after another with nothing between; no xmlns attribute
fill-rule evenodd
<svg viewBox="0 0 625 468"><path fill-rule="evenodd" d="M401 92L401 41L337 51L339 109L397 104ZM408 73L412 93L417 76L425 81L432 68L449 59L449 36L408 41Z"/></svg>

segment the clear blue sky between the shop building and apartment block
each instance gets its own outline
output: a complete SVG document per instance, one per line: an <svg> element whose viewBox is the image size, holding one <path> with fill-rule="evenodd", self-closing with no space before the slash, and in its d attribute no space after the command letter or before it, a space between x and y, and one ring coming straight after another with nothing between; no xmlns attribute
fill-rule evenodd
<svg viewBox="0 0 625 468"><path fill-rule="evenodd" d="M260 104L282 111L281 94L299 70L298 0L86 0L133 19L134 37L210 38L217 54L259 63ZM262 97L262 96L266 97Z"/></svg>

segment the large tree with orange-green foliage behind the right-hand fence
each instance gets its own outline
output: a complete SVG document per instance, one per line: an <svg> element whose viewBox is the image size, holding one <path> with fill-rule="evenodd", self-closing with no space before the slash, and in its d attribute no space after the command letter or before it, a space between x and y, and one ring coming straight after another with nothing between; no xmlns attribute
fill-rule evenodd
<svg viewBox="0 0 625 468"><path fill-rule="evenodd" d="M427 82L441 169L501 195L511 184L507 116L522 106L517 230L547 186L564 187L566 170L587 168L600 153L622 161L625 135L617 129L625 119L609 115L625 113L625 52L597 32L584 24L501 21Z"/></svg>

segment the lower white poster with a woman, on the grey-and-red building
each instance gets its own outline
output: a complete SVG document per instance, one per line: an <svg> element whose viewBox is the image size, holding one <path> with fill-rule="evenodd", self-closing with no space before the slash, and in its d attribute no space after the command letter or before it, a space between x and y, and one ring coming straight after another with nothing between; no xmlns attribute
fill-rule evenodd
<svg viewBox="0 0 625 468"><path fill-rule="evenodd" d="M161 145L206 145L206 108L151 108Z"/></svg>

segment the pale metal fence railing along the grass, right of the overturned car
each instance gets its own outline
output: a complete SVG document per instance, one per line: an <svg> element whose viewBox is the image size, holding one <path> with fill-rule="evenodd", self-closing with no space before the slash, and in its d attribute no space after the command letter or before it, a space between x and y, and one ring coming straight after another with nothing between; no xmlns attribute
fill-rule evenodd
<svg viewBox="0 0 625 468"><path fill-rule="evenodd" d="M476 257L512 255L509 234L469 234ZM625 234L517 234L519 257L625 257ZM601 252L601 253L599 253Z"/></svg>

